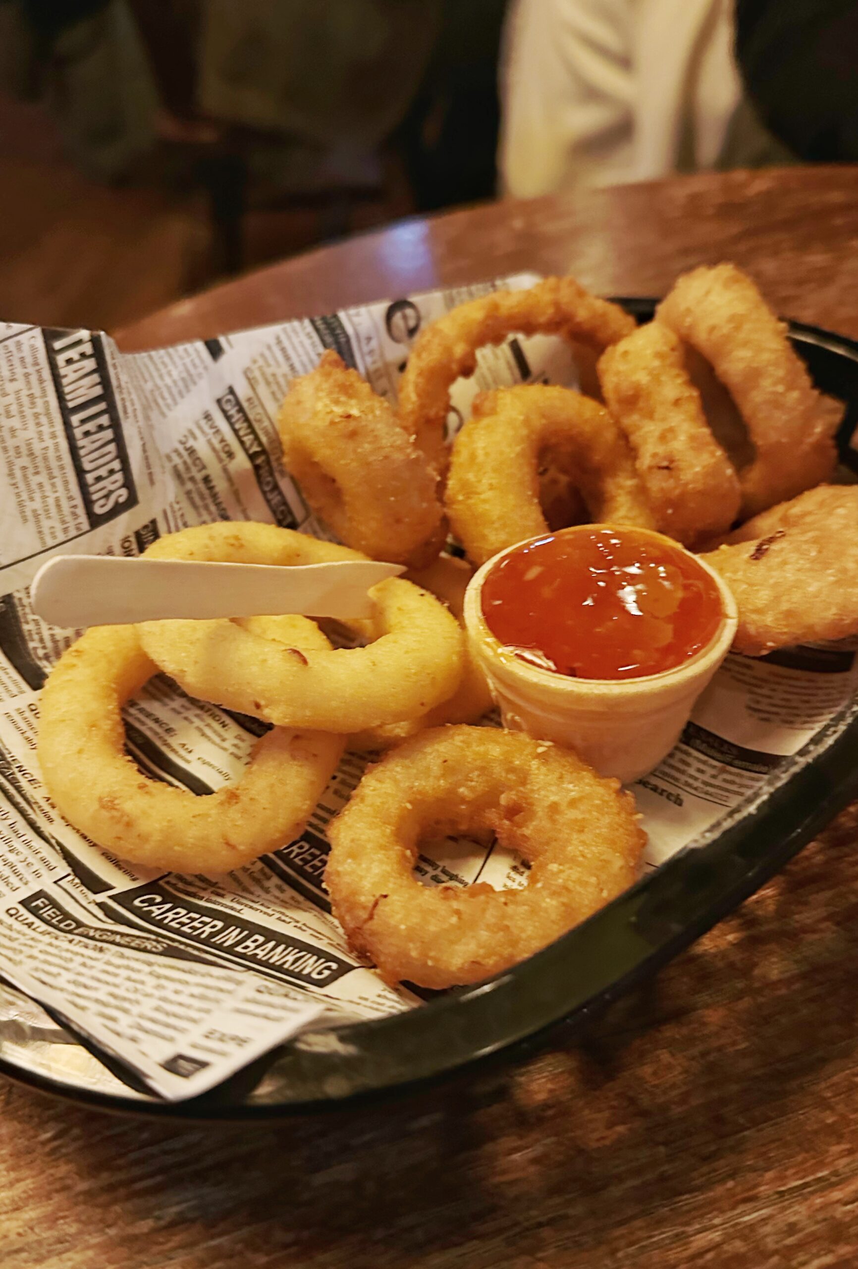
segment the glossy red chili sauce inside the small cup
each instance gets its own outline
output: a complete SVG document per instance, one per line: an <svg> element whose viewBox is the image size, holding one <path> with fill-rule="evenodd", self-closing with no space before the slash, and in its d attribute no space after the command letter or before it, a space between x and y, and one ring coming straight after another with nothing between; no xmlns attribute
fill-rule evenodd
<svg viewBox="0 0 858 1269"><path fill-rule="evenodd" d="M605 525L546 534L503 556L482 605L508 651L582 679L672 670L705 648L722 619L719 589L692 556Z"/></svg>

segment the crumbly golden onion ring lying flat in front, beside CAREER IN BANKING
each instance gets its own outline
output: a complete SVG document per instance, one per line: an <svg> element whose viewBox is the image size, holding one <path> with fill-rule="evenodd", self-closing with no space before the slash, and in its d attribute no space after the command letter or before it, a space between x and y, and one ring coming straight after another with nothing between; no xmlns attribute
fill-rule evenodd
<svg viewBox="0 0 858 1269"><path fill-rule="evenodd" d="M523 890L427 888L430 834L489 836L531 863ZM478 982L631 886L646 840L634 798L569 750L493 727L423 731L370 768L330 826L324 883L349 942L389 981Z"/></svg>

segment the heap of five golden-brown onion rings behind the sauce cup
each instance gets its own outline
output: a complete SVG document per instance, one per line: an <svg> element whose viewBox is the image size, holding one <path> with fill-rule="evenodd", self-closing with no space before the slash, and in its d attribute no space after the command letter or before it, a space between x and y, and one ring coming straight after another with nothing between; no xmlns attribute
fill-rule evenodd
<svg viewBox="0 0 858 1269"><path fill-rule="evenodd" d="M607 414L594 414L592 396L575 411L568 397L564 411L561 390L539 385L482 393L451 447L454 382L474 373L483 345L515 332L559 334L579 362L584 350L582 382L603 396ZM743 435L729 453L692 359L731 393ZM589 518L655 525L700 548L740 513L829 478L835 462L828 404L783 322L730 264L681 277L641 329L574 278L489 292L418 335L398 397L394 411L328 352L293 383L280 433L286 468L346 544L417 569L441 549L445 509L474 563L546 525ZM593 459L599 430L605 443ZM493 448L499 437L517 462Z"/></svg>

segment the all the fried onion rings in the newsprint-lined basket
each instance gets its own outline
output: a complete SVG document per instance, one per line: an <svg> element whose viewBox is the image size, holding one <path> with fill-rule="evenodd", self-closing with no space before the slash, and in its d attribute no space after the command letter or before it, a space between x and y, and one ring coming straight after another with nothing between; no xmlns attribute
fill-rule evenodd
<svg viewBox="0 0 858 1269"><path fill-rule="evenodd" d="M451 386L515 332L586 348L587 395L480 393L449 444ZM714 435L692 354L731 393L746 459ZM327 353L293 382L279 430L286 470L343 546L218 523L147 553L284 567L369 556L411 572L374 588L375 617L346 623L350 646L302 617L89 631L48 678L39 761L60 811L106 850L218 873L300 832L345 746L389 750L333 822L326 876L350 942L389 981L446 987L513 964L631 884L645 841L631 794L574 754L468 726L492 704L460 624L473 565L563 523L655 527L696 549L722 542L703 558L739 602L739 651L858 633L858 489L811 487L831 475L833 419L733 265L679 278L641 329L572 278L492 292L421 334L397 410ZM469 562L439 555L447 516ZM198 797L124 753L122 706L158 671L271 726L238 782ZM496 835L531 865L527 886L421 886L430 832Z"/></svg>

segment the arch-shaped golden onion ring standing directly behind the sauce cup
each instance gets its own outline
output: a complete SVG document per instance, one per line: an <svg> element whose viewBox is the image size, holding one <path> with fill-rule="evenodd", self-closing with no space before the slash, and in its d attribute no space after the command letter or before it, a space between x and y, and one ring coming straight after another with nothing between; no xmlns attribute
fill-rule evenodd
<svg viewBox="0 0 858 1269"><path fill-rule="evenodd" d="M547 530L540 453L561 452L593 520L655 528L631 450L607 410L572 388L482 392L452 447L445 491L454 532L474 563Z"/></svg>

